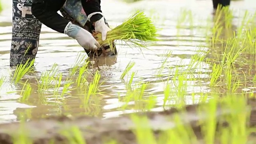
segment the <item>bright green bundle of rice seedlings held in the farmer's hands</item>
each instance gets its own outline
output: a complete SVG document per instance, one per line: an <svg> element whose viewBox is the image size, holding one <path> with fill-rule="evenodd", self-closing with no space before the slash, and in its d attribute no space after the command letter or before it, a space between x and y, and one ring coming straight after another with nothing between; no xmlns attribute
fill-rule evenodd
<svg viewBox="0 0 256 144"><path fill-rule="evenodd" d="M157 28L144 12L136 11L130 18L126 19L121 25L107 33L106 40L102 41L101 33L93 32L94 38L100 45L109 44L112 51L114 40L122 40L126 44L139 48L146 48L148 44L155 44Z"/></svg>

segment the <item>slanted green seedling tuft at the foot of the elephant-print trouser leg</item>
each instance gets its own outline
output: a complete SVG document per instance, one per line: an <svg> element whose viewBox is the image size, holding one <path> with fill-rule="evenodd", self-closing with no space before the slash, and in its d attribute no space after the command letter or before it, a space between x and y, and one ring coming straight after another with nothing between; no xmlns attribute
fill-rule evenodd
<svg viewBox="0 0 256 144"><path fill-rule="evenodd" d="M25 74L28 74L30 72L34 72L34 69L32 68L32 66L34 66L34 61L35 59L33 60L27 60L25 64L19 64L15 71L14 71L14 75L12 77L12 81L17 84L20 79L23 78L23 76Z"/></svg>

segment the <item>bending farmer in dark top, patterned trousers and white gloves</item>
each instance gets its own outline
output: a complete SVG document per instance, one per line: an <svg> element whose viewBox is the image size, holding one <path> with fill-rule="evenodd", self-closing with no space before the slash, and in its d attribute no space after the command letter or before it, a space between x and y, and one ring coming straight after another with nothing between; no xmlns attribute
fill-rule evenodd
<svg viewBox="0 0 256 144"><path fill-rule="evenodd" d="M12 0L10 66L36 57L42 24L77 40L88 56L92 53L99 56L103 51L92 36L92 30L102 33L102 40L110 30L100 0ZM116 49L112 52L109 46L103 49L107 55L116 54Z"/></svg>

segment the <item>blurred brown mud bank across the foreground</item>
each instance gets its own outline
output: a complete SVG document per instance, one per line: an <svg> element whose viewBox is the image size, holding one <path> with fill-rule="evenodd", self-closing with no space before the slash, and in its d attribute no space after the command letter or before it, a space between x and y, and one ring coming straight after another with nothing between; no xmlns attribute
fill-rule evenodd
<svg viewBox="0 0 256 144"><path fill-rule="evenodd" d="M150 128L154 131L156 137L160 132L169 128L175 128L176 124L173 118L176 114L180 116L181 122L184 126L191 126L194 133L198 137L200 143L202 142L202 134L200 126L197 124L199 120L207 119L207 111L202 111L202 115L198 115L196 109L198 106L204 104L188 105L185 111L181 112L175 108L165 110L162 112L140 112L137 116L146 116L149 125L140 126L142 128ZM217 129L218 126L227 126L225 121L220 122L222 116L230 116L234 114L235 110L223 108L223 104L217 105L216 118ZM256 99L248 99L247 108L244 112L251 112L248 124L250 126L256 125ZM9 123L0 125L0 144L12 144L12 136L17 134L27 134L33 140L33 144L48 144L55 142L57 144L68 144L67 139L60 132L77 126L82 132L82 136L86 140L86 144L103 144L108 140L117 140L118 144L136 144L136 137L132 130L136 127L130 118L130 114L124 114L117 118L100 119L96 117L82 116L72 118L68 116L52 116L44 119L31 120L25 123ZM20 128L24 128L24 131ZM70 132L72 134L72 132ZM74 133L73 133L74 134ZM253 135L250 139L254 138ZM52 141L51 141L52 140Z"/></svg>

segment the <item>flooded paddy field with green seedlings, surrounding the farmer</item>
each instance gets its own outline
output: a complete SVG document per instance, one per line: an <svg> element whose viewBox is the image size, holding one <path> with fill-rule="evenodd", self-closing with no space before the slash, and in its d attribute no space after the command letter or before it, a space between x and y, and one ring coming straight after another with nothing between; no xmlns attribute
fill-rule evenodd
<svg viewBox="0 0 256 144"><path fill-rule="evenodd" d="M9 66L12 3L2 3L1 144L12 144L24 122L21 133L29 138L18 137L24 144L84 144L83 137L88 144L254 143L255 105L248 99L256 88L253 0L232 1L215 13L211 0L102 0L110 27L144 10L161 28L160 41L142 51L116 42L117 56L86 60L75 40L43 25L35 67L24 75ZM73 128L75 141L58 136L64 128Z"/></svg>

